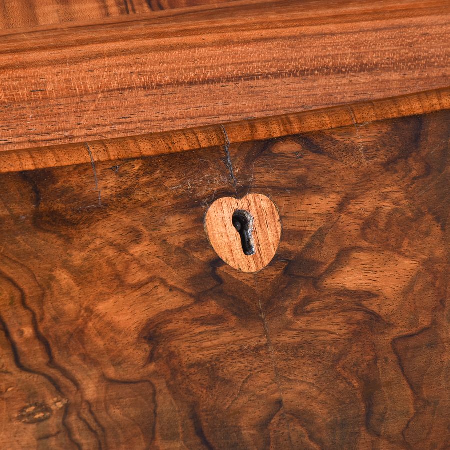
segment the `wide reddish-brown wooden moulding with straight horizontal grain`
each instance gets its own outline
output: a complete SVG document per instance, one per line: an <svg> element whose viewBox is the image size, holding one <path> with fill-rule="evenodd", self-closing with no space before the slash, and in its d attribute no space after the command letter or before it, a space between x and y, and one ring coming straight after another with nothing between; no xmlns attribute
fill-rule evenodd
<svg viewBox="0 0 450 450"><path fill-rule="evenodd" d="M0 33L3 150L447 87L444 0L242 1Z"/></svg>

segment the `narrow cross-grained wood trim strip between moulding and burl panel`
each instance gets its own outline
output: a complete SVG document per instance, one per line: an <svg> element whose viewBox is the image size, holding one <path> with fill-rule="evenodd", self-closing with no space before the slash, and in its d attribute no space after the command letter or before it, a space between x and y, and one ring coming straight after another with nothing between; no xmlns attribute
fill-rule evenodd
<svg viewBox="0 0 450 450"><path fill-rule="evenodd" d="M0 152L0 173L248 142L450 109L450 87L394 98L118 139Z"/></svg>

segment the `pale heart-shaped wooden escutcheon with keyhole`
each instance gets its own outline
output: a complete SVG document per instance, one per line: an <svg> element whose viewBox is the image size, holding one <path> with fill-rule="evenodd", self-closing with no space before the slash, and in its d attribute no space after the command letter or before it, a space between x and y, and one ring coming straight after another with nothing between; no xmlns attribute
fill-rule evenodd
<svg viewBox="0 0 450 450"><path fill-rule="evenodd" d="M206 213L206 234L216 253L243 272L257 272L275 256L281 237L278 209L269 197L223 197Z"/></svg>

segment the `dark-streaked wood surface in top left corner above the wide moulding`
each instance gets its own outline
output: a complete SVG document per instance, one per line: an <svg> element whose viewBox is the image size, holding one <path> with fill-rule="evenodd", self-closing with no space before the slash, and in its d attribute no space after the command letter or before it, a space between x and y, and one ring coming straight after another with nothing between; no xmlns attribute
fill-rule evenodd
<svg viewBox="0 0 450 450"><path fill-rule="evenodd" d="M98 20L233 0L1 0L0 29Z"/></svg>

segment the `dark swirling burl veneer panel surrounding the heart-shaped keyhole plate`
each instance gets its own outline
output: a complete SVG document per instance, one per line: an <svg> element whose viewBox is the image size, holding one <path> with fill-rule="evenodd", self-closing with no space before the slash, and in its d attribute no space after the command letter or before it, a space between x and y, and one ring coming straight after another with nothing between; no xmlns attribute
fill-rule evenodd
<svg viewBox="0 0 450 450"><path fill-rule="evenodd" d="M0 447L444 449L449 112L0 176ZM258 273L213 199L269 196Z"/></svg>

